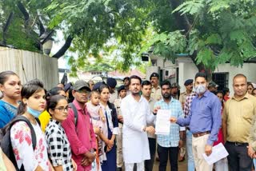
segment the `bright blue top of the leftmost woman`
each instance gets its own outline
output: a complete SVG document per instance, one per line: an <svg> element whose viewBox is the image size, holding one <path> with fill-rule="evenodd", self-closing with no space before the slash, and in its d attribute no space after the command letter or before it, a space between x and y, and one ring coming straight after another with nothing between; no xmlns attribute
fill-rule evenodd
<svg viewBox="0 0 256 171"><path fill-rule="evenodd" d="M17 113L17 107L10 105L6 101L0 100L0 129L14 118Z"/></svg>

